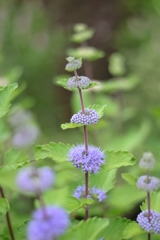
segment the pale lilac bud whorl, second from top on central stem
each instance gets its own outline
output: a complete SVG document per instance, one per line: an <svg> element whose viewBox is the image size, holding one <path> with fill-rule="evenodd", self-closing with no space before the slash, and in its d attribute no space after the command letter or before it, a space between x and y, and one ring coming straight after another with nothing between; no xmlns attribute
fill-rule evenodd
<svg viewBox="0 0 160 240"><path fill-rule="evenodd" d="M76 77L71 77L68 79L67 82L67 88L69 89L74 89L74 88L81 88L81 89L85 89L89 86L89 84L91 83L91 80L88 77L78 77L78 81Z"/></svg>

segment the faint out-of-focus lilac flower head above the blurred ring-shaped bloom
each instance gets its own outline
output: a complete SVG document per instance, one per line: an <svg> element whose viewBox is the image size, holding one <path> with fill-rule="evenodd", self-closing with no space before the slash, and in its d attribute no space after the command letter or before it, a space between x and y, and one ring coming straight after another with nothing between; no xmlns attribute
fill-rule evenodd
<svg viewBox="0 0 160 240"><path fill-rule="evenodd" d="M40 130L36 125L25 124L16 129L12 136L12 145L15 148L31 146L39 137Z"/></svg>

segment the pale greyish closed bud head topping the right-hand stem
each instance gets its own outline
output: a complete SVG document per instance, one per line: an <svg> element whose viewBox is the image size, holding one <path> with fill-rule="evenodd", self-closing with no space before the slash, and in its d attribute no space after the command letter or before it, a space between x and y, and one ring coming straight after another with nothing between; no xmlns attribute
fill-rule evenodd
<svg viewBox="0 0 160 240"><path fill-rule="evenodd" d="M139 167L144 170L150 170L154 167L154 164L155 164L155 160L153 158L152 153L145 152L139 162Z"/></svg>

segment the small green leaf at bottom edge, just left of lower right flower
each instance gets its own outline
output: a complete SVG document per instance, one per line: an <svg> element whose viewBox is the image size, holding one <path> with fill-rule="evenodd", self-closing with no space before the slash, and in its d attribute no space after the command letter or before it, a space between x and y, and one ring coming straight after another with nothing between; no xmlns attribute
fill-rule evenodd
<svg viewBox="0 0 160 240"><path fill-rule="evenodd" d="M130 222L123 231L123 239L130 239L134 236L145 233L137 222Z"/></svg>

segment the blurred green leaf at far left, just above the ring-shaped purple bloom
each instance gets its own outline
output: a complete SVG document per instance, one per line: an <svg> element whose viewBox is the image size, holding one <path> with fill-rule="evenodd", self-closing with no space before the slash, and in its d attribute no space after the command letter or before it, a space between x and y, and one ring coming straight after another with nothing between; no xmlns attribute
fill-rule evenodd
<svg viewBox="0 0 160 240"><path fill-rule="evenodd" d="M12 171L24 166L28 162L29 158L25 151L11 149L5 154L5 161L2 168L4 172Z"/></svg>

